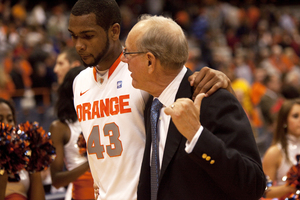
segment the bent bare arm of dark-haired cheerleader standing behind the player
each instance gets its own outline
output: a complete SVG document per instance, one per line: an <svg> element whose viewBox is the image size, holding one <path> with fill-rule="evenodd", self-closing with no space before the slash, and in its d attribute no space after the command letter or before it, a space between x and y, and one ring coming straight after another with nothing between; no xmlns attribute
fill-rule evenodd
<svg viewBox="0 0 300 200"><path fill-rule="evenodd" d="M50 165L52 185L56 188L67 186L84 174L88 169L88 162L76 167L71 171L64 171L64 145L69 141L71 131L67 124L54 121L50 126L53 146L56 149L56 158Z"/></svg>

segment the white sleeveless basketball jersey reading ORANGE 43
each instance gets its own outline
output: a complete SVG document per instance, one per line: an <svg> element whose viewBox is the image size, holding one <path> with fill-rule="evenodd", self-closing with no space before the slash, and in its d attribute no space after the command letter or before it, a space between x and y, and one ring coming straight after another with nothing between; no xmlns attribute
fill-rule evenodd
<svg viewBox="0 0 300 200"><path fill-rule="evenodd" d="M136 199L145 144L143 91L120 57L97 81L95 68L74 80L74 105L101 200Z"/></svg>

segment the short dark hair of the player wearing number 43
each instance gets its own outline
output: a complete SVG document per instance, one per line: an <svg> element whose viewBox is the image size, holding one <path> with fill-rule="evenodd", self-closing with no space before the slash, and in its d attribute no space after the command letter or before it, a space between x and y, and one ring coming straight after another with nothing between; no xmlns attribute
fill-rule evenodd
<svg viewBox="0 0 300 200"><path fill-rule="evenodd" d="M97 24L108 30L115 23L121 24L121 12L115 0L78 0L71 10L75 16L94 13Z"/></svg>

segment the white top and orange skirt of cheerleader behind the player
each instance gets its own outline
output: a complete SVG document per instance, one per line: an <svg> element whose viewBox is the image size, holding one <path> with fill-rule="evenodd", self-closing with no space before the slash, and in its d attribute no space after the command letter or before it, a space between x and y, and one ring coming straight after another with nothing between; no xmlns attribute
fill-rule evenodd
<svg viewBox="0 0 300 200"><path fill-rule="evenodd" d="M65 164L70 171L87 161L85 156L79 154L77 140L81 133L81 127L78 121L75 123L66 122L70 128L71 136L67 144L64 145ZM72 198L73 199L94 199L93 177L90 171L86 171L77 180L73 181ZM69 190L68 190L69 191Z"/></svg>

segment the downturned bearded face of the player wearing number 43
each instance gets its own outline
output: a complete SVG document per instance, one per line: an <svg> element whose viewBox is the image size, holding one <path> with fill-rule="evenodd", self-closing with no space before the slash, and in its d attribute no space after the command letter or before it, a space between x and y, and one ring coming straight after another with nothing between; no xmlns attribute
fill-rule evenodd
<svg viewBox="0 0 300 200"><path fill-rule="evenodd" d="M106 56L110 43L107 32L96 23L96 15L70 15L69 28L77 53L85 66L96 66Z"/></svg>

